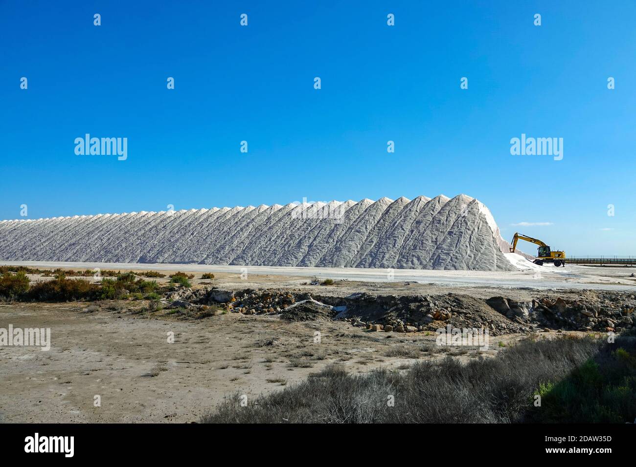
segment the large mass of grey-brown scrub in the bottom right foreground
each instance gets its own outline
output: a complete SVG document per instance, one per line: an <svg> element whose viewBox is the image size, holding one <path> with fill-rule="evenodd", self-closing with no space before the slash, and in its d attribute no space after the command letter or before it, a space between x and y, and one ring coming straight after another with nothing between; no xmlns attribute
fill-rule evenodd
<svg viewBox="0 0 636 467"><path fill-rule="evenodd" d="M462 365L418 362L406 372L349 374L331 365L307 381L259 396L233 396L206 423L633 422L635 339L526 339ZM543 393L541 407L534 395Z"/></svg>

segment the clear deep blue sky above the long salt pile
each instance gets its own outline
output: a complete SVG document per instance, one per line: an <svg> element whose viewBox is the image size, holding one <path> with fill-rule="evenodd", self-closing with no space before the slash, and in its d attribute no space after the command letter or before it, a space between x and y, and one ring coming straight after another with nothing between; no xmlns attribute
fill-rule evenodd
<svg viewBox="0 0 636 467"><path fill-rule="evenodd" d="M633 1L0 1L0 219L466 193L506 238L636 255L635 22ZM77 156L85 133L128 159ZM563 160L512 156L522 133Z"/></svg>

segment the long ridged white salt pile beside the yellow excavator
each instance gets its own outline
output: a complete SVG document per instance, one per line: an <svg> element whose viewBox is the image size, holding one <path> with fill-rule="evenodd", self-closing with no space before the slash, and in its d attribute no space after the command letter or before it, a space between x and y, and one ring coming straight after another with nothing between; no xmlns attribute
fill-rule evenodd
<svg viewBox="0 0 636 467"><path fill-rule="evenodd" d="M4 261L515 271L509 246L464 194L0 222Z"/></svg>

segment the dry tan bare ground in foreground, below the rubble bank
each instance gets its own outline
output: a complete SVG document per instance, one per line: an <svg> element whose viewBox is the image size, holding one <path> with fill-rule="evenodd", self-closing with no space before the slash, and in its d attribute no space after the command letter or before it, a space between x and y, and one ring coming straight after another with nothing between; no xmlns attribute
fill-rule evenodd
<svg viewBox="0 0 636 467"><path fill-rule="evenodd" d="M432 335L373 333L341 321L287 323L238 313L177 321L131 314L130 303L104 302L92 313L86 312L89 304L77 302L0 304L0 327L52 333L49 351L0 347L0 420L187 423L227 395L249 398L282 389L332 362L356 373L405 369L415 361L386 356L392 346L417 351L429 344L432 351L418 358L466 361L495 355L499 341L520 338L493 337L487 351L449 349L431 346ZM168 343L169 332L174 343ZM280 343L263 345L269 339ZM94 407L96 395L100 407Z"/></svg>

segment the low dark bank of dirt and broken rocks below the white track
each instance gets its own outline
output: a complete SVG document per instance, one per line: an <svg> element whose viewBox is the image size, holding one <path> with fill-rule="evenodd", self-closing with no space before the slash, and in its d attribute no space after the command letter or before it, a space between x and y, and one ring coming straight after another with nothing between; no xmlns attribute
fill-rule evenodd
<svg viewBox="0 0 636 467"><path fill-rule="evenodd" d="M211 299L216 297L216 299ZM221 300L219 300L221 299ZM628 292L583 291L572 297L539 295L529 301L508 297L479 299L464 294L377 295L349 297L312 295L294 290L244 290L235 294L214 289L205 301L247 315L280 315L288 321L347 320L356 326L397 332L453 328L485 328L491 335L544 328L609 332L632 328L636 295Z"/></svg>

